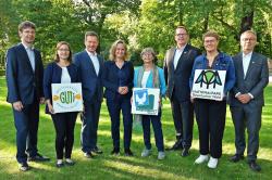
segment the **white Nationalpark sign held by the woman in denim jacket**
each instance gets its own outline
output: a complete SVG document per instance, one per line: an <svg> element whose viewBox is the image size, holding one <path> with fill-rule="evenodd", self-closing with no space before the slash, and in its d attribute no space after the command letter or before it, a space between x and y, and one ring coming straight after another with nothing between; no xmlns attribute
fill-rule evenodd
<svg viewBox="0 0 272 180"><path fill-rule="evenodd" d="M226 70L196 69L191 97L208 100L223 100Z"/></svg>

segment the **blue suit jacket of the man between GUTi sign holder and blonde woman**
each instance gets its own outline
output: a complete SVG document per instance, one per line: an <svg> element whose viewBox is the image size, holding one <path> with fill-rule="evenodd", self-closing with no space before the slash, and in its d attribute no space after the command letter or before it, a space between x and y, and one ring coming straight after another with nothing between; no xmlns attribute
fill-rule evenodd
<svg viewBox="0 0 272 180"><path fill-rule="evenodd" d="M96 74L95 66L86 52L86 50L78 52L74 55L73 61L78 67L79 77L83 86L83 100L87 102L102 101L103 89L102 89L102 69L103 69L103 57L97 55L99 61L99 73Z"/></svg>

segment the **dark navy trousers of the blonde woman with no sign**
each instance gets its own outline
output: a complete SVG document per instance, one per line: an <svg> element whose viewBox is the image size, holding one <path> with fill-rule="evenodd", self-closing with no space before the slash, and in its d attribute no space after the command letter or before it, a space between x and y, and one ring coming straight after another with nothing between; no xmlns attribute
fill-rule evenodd
<svg viewBox="0 0 272 180"><path fill-rule="evenodd" d="M113 147L120 149L120 113L122 110L124 125L124 149L129 149L133 127L131 99L116 95L114 100L107 99L107 106L111 116L111 137L113 140Z"/></svg>

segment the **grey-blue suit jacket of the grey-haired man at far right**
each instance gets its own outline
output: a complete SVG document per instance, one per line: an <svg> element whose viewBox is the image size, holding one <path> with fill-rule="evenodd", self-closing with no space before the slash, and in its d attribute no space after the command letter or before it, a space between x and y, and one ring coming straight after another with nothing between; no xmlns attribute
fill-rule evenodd
<svg viewBox="0 0 272 180"><path fill-rule="evenodd" d="M268 59L259 53L252 52L246 77L244 78L243 53L233 56L236 82L230 93L231 106L243 106L235 94L251 93L254 99L248 103L254 106L263 106L263 89L269 82Z"/></svg>

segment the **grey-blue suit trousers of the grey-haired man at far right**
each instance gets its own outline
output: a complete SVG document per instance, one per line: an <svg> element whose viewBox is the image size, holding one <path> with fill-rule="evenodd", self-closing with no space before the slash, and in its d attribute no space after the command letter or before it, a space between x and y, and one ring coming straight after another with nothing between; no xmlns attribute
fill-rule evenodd
<svg viewBox="0 0 272 180"><path fill-rule="evenodd" d="M248 160L256 160L259 150L259 131L261 128L262 106L250 106L250 104L231 107L233 124L235 128L236 154L244 154L246 149L245 130L248 133Z"/></svg>

